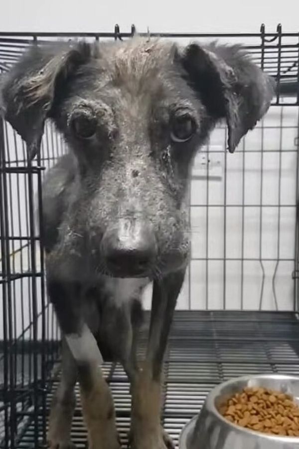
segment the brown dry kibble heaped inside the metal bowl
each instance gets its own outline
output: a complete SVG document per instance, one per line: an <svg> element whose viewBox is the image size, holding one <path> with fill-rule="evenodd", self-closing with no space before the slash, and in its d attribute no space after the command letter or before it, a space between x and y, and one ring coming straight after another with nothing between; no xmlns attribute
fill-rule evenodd
<svg viewBox="0 0 299 449"><path fill-rule="evenodd" d="M299 407L287 394L244 388L220 408L231 423L272 435L299 437Z"/></svg>

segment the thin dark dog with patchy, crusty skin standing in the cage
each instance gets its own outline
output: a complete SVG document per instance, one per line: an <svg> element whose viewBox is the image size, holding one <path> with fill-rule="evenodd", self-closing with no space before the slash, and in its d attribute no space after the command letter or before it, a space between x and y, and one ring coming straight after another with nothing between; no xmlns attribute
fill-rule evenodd
<svg viewBox="0 0 299 449"><path fill-rule="evenodd" d="M225 120L228 150L267 112L273 80L241 46L159 39L34 46L1 84L4 118L40 148L46 119L69 153L43 183L48 297L62 331L51 449L69 449L79 381L90 449L119 449L102 358L131 383L131 447L165 449L163 355L189 261L190 172ZM136 356L141 296L153 282L145 360ZM100 352L99 352L100 350Z"/></svg>

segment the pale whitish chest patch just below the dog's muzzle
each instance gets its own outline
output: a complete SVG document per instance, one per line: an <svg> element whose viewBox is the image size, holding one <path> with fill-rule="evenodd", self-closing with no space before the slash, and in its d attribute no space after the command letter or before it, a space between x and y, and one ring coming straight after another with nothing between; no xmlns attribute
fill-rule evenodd
<svg viewBox="0 0 299 449"><path fill-rule="evenodd" d="M119 278L103 276L102 291L109 301L114 302L116 306L132 299L141 299L144 288L149 284L149 278Z"/></svg>

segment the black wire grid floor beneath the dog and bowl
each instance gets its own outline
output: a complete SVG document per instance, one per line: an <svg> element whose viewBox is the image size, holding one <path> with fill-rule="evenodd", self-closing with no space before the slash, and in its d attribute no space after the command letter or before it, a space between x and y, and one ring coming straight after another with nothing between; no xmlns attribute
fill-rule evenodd
<svg viewBox="0 0 299 449"><path fill-rule="evenodd" d="M145 337L141 338L141 352ZM117 424L123 447L127 447L130 427L129 383L121 366L110 377ZM177 311L169 338L165 363L165 400L163 425L176 447L181 429L196 415L208 392L218 383L246 374L281 373L299 375L299 315L288 312L201 312ZM49 407L58 378L53 379L47 395ZM77 448L86 447L86 429L82 420L79 389L72 426ZM48 408L47 407L47 408ZM17 448L34 448L34 432L39 426L28 425ZM42 447L42 444L41 444Z"/></svg>

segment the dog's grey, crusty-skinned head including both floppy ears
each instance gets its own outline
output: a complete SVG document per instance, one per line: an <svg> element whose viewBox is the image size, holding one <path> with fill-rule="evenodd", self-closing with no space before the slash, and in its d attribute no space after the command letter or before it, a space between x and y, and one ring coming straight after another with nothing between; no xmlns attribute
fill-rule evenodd
<svg viewBox="0 0 299 449"><path fill-rule="evenodd" d="M240 47L134 38L32 48L2 84L2 109L30 157L46 118L75 154L62 237L114 275L144 276L186 263L190 169L215 123L233 152L273 93Z"/></svg>

